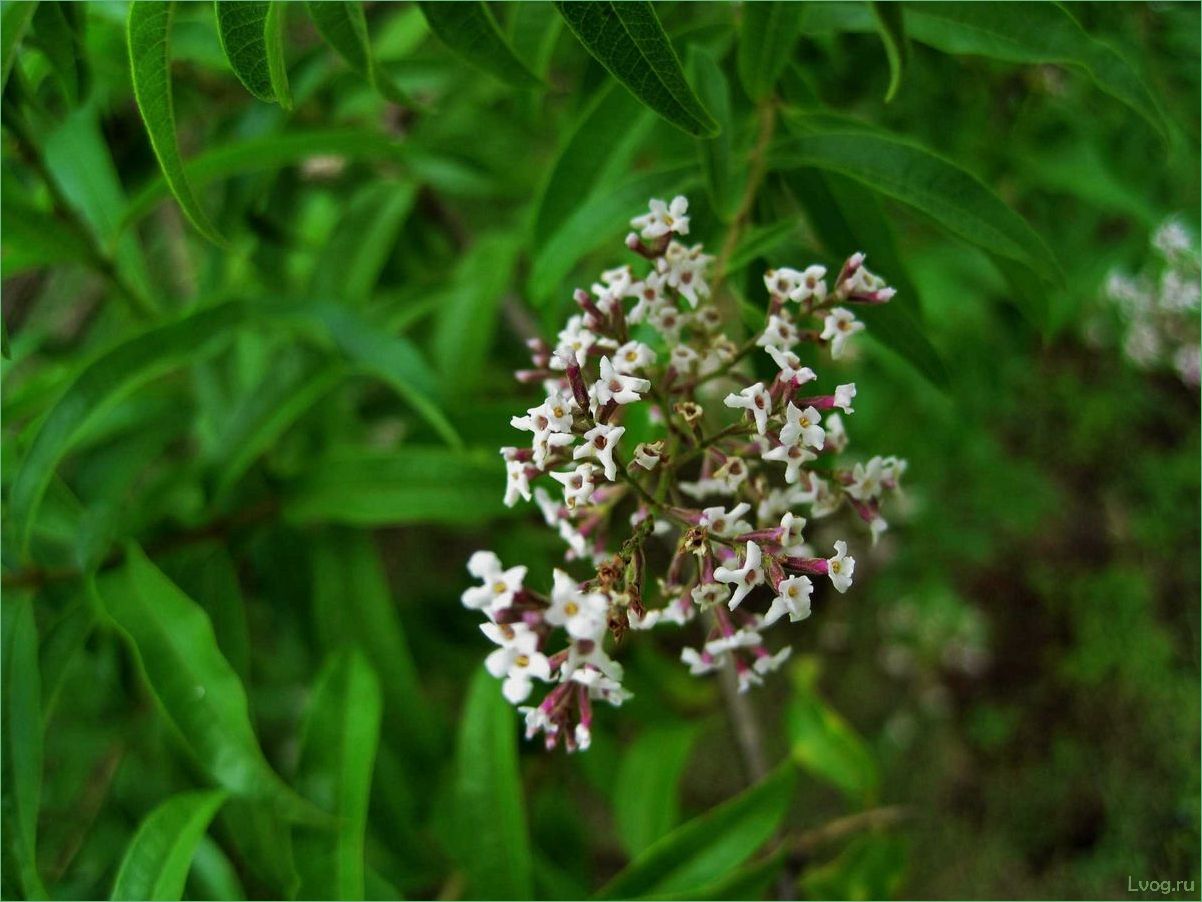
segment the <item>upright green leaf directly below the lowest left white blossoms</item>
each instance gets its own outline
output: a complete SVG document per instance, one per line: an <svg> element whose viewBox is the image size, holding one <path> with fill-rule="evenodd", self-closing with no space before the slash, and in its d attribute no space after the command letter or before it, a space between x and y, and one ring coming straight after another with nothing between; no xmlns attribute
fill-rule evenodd
<svg viewBox="0 0 1202 902"><path fill-rule="evenodd" d="M465 897L534 898L517 724L498 681L477 669L459 722L454 762L452 853L466 878Z"/></svg>

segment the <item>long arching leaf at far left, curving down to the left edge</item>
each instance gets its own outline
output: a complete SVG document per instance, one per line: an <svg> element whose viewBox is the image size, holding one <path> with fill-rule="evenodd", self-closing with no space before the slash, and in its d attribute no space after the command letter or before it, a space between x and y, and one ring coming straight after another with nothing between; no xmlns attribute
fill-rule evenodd
<svg viewBox="0 0 1202 902"><path fill-rule="evenodd" d="M237 303L210 307L117 345L79 373L42 421L13 479L8 514L20 547L29 542L37 506L59 461L90 419L136 386L212 351L243 316L244 308Z"/></svg>

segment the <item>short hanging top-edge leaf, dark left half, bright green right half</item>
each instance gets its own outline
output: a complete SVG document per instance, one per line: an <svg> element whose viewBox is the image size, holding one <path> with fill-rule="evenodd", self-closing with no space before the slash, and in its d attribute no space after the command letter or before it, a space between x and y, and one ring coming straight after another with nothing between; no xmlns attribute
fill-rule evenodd
<svg viewBox="0 0 1202 902"><path fill-rule="evenodd" d="M286 5L276 0L213 0L221 49L238 81L268 103L292 108L282 29Z"/></svg>

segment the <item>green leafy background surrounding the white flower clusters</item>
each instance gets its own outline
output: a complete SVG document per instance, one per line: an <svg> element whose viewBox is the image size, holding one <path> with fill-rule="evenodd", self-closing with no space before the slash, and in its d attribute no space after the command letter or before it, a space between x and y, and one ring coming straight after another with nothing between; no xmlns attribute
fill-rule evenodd
<svg viewBox="0 0 1202 902"><path fill-rule="evenodd" d="M5 897L1198 878L1198 397L1083 328L1197 235L1196 5L0 19ZM900 289L844 369L908 515L752 698L750 788L673 637L565 759L458 603L559 554L500 503L524 337L678 190L736 299Z"/></svg>

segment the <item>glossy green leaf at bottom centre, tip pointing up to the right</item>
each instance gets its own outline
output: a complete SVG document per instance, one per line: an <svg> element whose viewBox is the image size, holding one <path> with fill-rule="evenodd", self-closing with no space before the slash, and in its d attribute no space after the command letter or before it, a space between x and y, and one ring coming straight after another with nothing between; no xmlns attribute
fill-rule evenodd
<svg viewBox="0 0 1202 902"><path fill-rule="evenodd" d="M724 877L768 842L792 805L785 765L733 799L682 824L606 884L597 898L684 894Z"/></svg>

